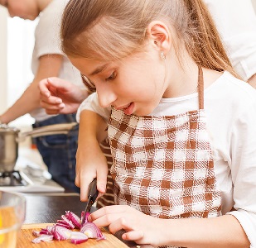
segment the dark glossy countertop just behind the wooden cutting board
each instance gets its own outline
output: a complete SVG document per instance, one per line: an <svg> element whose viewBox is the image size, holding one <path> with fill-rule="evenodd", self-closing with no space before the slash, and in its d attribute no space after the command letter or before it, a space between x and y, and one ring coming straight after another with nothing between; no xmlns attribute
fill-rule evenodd
<svg viewBox="0 0 256 248"><path fill-rule="evenodd" d="M23 193L27 200L26 219L24 224L31 223L55 223L65 211L74 212L80 217L85 203L80 202L78 193ZM92 211L95 207L92 208ZM123 241L123 231L118 231L115 236ZM128 247L150 248L152 246L138 246L132 241L123 241Z"/></svg>

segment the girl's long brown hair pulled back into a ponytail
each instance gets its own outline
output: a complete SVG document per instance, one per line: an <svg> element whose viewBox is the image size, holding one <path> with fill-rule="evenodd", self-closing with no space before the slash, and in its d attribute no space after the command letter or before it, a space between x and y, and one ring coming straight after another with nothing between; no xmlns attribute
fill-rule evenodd
<svg viewBox="0 0 256 248"><path fill-rule="evenodd" d="M68 56L120 60L144 49L147 26L161 20L197 64L235 73L210 13L201 0L70 0L61 25Z"/></svg>

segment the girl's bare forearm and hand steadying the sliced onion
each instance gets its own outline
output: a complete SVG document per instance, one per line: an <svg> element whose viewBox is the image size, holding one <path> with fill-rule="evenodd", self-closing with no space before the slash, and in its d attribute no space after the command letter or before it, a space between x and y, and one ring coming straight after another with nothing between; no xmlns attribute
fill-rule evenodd
<svg viewBox="0 0 256 248"><path fill-rule="evenodd" d="M127 231L123 239L152 246L195 248L250 247L249 240L232 215L215 218L160 219L128 206L102 207L90 215L98 227L115 233Z"/></svg>

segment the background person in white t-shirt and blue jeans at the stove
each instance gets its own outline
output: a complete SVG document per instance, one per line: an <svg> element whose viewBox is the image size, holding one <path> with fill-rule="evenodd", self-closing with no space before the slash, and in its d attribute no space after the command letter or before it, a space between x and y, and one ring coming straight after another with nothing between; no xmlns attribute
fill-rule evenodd
<svg viewBox="0 0 256 248"><path fill-rule="evenodd" d="M30 113L36 122L34 127L48 126L57 123L75 122L75 114L60 114L55 117L47 115L40 106L38 83L41 79L59 76L77 84L83 92L85 87L80 73L72 66L60 50L60 19L65 4L63 0L0 0L7 7L11 17L35 20L39 17L35 31L35 46L32 55L32 72L34 79L22 96L12 107L0 115L0 123L9 123ZM77 150L78 126L68 135L53 135L36 138L44 163L52 178L65 189L80 192L75 186L75 153Z"/></svg>

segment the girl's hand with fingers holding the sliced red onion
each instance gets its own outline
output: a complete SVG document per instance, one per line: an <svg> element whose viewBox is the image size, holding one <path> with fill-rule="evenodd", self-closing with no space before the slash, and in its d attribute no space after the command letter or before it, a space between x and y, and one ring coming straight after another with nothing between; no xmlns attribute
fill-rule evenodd
<svg viewBox="0 0 256 248"><path fill-rule="evenodd" d="M102 207L89 216L98 227L109 227L111 233L127 231L122 235L125 241L158 246L161 239L162 219L148 216L127 205Z"/></svg>

